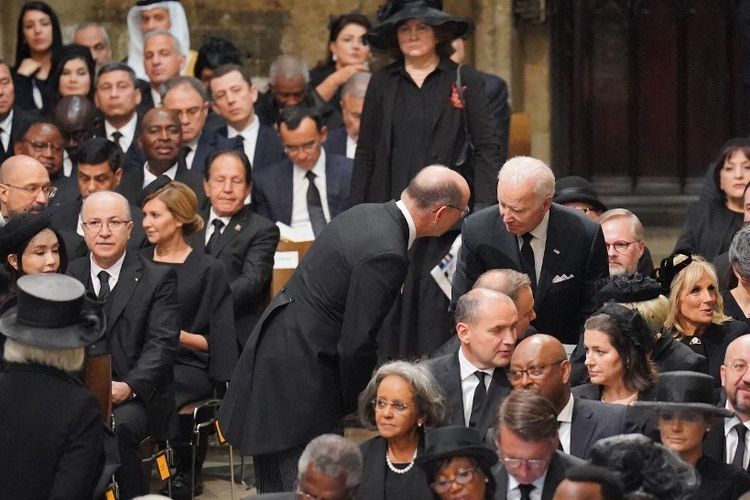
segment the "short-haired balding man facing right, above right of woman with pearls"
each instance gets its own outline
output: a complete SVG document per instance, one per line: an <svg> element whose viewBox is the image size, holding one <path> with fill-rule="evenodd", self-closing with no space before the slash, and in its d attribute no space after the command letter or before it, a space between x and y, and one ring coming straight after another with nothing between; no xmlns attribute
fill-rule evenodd
<svg viewBox="0 0 750 500"><path fill-rule="evenodd" d="M428 362L445 392L450 425L465 425L482 435L492 425L498 404L510 393L505 373L516 343L518 312L505 294L475 288L456 306L460 347Z"/></svg>

